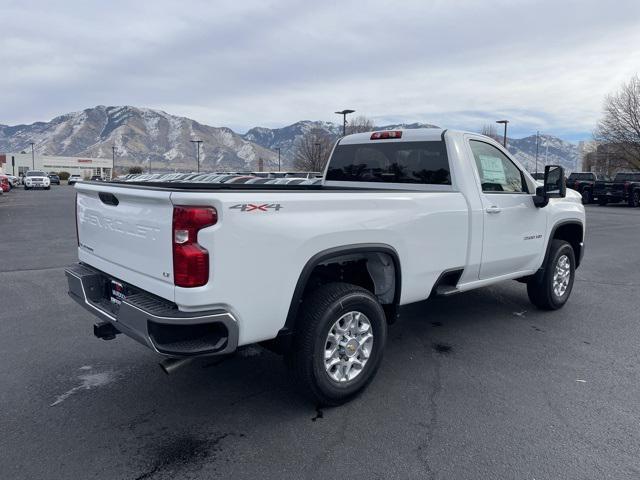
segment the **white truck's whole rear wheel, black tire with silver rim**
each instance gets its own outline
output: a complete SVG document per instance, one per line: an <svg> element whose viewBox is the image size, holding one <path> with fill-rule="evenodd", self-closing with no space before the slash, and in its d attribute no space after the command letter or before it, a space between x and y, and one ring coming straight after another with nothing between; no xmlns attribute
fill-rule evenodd
<svg viewBox="0 0 640 480"><path fill-rule="evenodd" d="M387 322L376 297L348 283L329 283L302 303L286 362L300 390L321 405L360 393L380 366Z"/></svg>

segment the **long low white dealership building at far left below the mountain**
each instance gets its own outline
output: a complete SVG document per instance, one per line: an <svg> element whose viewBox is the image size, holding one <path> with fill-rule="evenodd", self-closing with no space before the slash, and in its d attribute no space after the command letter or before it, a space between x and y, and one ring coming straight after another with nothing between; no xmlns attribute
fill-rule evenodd
<svg viewBox="0 0 640 480"><path fill-rule="evenodd" d="M29 153L0 153L0 172L9 175L24 175L29 170L49 172L69 172L89 178L100 175L111 179L113 160L111 158L90 157L55 157L51 155L35 155Z"/></svg>

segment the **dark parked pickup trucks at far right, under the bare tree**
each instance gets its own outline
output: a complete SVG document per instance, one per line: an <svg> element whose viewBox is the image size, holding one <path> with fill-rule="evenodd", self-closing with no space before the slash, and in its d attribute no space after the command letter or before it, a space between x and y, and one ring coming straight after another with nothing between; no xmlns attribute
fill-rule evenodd
<svg viewBox="0 0 640 480"><path fill-rule="evenodd" d="M567 188L582 195L582 203L624 202L640 207L640 172L620 172L613 180L599 179L593 172L574 172L567 178Z"/></svg>

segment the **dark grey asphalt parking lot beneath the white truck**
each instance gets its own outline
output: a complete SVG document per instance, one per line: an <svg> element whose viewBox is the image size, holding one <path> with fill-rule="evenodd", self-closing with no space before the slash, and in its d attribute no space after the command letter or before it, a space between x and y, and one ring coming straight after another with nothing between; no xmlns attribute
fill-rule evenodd
<svg viewBox="0 0 640 480"><path fill-rule="evenodd" d="M66 293L73 188L0 197L0 477L640 477L640 209L587 208L564 309L517 282L411 305L373 384L317 409L251 348L173 376Z"/></svg>

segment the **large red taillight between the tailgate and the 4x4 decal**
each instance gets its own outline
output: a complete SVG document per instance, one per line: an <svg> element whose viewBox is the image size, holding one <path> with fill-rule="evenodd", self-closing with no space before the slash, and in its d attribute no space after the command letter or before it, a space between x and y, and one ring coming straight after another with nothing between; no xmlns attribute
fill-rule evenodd
<svg viewBox="0 0 640 480"><path fill-rule="evenodd" d="M198 245L198 231L215 225L213 207L173 207L173 283L201 287L209 281L209 252Z"/></svg>

